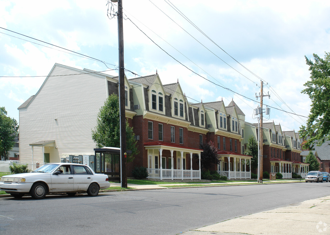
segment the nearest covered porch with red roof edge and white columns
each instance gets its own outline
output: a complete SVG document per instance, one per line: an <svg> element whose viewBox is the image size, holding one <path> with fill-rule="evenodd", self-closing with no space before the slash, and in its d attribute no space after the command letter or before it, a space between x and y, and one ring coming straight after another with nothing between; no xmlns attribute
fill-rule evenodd
<svg viewBox="0 0 330 235"><path fill-rule="evenodd" d="M144 146L148 150L148 178L160 180L201 179L201 152L203 149L166 142L149 142ZM193 163L193 154L198 155L199 165ZM193 170L193 166L195 170ZM188 170L189 168L190 170Z"/></svg>

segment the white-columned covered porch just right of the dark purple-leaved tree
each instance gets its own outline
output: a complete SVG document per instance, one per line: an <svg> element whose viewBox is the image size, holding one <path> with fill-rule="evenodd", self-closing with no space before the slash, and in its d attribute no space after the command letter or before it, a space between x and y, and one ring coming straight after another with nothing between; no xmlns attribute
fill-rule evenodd
<svg viewBox="0 0 330 235"><path fill-rule="evenodd" d="M226 151L218 151L218 155L221 157L217 170L218 174L224 175L228 179L251 178L251 168L247 164L247 161L250 162L251 156Z"/></svg>

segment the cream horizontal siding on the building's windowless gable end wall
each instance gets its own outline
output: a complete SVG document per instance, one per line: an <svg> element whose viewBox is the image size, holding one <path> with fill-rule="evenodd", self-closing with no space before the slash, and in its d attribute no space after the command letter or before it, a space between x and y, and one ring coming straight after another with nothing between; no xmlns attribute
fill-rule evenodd
<svg viewBox="0 0 330 235"><path fill-rule="evenodd" d="M55 65L49 75L79 73ZM62 154L94 155L92 129L107 93L106 79L92 74L48 77L29 106L19 110L20 160L31 161L29 144L43 140L57 146L45 147L50 162L59 162ZM42 147L34 147L33 155L42 162Z"/></svg>

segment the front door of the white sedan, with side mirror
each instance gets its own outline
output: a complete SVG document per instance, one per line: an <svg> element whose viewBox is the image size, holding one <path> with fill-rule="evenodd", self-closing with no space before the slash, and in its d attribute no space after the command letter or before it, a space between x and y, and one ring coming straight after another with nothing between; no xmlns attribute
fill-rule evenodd
<svg viewBox="0 0 330 235"><path fill-rule="evenodd" d="M54 172L60 171L60 174ZM74 178L71 165L61 165L51 174L51 187L49 192L70 192L74 190Z"/></svg>

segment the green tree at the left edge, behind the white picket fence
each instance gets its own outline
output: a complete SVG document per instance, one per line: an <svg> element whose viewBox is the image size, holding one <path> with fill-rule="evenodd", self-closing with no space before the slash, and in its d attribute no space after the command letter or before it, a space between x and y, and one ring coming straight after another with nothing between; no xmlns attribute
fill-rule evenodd
<svg viewBox="0 0 330 235"><path fill-rule="evenodd" d="M14 147L18 134L18 124L14 118L7 117L5 107L0 107L0 155L6 159L7 152Z"/></svg>

